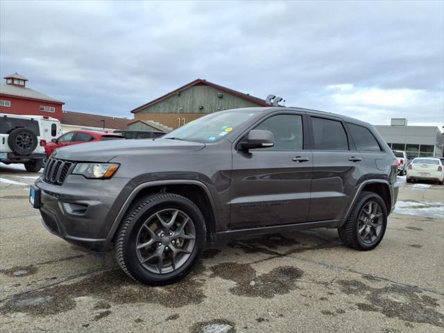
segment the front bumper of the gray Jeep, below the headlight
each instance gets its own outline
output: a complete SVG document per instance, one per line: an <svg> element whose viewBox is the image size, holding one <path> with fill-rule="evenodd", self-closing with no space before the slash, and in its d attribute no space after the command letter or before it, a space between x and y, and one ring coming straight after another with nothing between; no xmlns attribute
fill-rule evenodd
<svg viewBox="0 0 444 333"><path fill-rule="evenodd" d="M62 185L52 185L39 178L33 185L38 192L36 198L40 198L34 207L40 210L42 223L49 232L103 253L110 246L106 240L114 222L110 211L127 183L126 178L92 180L69 175Z"/></svg>

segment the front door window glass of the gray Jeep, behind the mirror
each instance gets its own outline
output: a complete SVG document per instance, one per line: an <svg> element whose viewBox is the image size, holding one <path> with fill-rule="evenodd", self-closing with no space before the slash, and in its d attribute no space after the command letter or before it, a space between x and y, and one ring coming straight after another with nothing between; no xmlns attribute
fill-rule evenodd
<svg viewBox="0 0 444 333"><path fill-rule="evenodd" d="M261 151L302 151L304 133L302 116L298 114L278 114L256 126L255 130L269 130L275 137L275 144Z"/></svg>

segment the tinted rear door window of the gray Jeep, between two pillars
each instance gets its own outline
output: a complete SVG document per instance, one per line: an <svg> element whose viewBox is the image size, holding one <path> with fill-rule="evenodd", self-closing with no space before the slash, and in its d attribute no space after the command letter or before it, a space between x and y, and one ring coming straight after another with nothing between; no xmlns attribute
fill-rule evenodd
<svg viewBox="0 0 444 333"><path fill-rule="evenodd" d="M348 139L341 121L311 117L314 150L348 151Z"/></svg>

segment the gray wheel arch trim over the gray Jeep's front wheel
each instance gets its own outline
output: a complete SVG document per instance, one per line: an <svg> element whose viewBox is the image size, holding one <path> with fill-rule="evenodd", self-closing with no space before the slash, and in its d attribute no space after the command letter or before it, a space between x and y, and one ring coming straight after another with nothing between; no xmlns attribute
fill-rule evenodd
<svg viewBox="0 0 444 333"><path fill-rule="evenodd" d="M184 196L198 206L205 219L207 239L210 239L210 234L214 232L216 226L216 206L212 200L210 189L208 189L203 182L198 180L159 180L144 182L137 185L137 187L131 191L125 203L123 203L123 206L119 210L116 219L114 219L110 232L108 232L106 237L106 243L108 246L112 243L117 229L123 220L123 216L128 212L131 204L142 196L162 192Z"/></svg>

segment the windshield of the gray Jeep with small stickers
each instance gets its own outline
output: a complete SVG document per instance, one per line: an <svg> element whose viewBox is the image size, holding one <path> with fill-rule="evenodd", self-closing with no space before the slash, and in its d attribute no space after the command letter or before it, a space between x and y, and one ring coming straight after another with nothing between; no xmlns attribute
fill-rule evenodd
<svg viewBox="0 0 444 333"><path fill-rule="evenodd" d="M178 139L196 142L217 142L225 135L230 135L242 123L257 114L258 111L215 112L187 123L164 136L164 139Z"/></svg>

